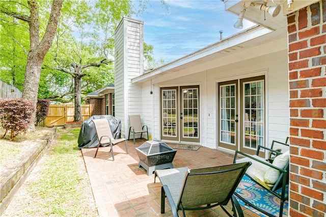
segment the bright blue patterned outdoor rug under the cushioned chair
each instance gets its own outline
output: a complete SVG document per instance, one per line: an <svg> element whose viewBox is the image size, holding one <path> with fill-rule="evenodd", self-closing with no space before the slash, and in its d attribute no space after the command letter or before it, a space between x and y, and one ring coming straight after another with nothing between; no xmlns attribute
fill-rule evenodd
<svg viewBox="0 0 326 217"><path fill-rule="evenodd" d="M269 193L266 191L263 187L255 183L253 180L251 180L248 176L244 175L241 179L238 187L236 188L235 192L244 199L250 201L255 206L261 208L262 210L266 211L267 213L271 213L274 216L279 216L280 213L280 199L276 197L275 195ZM278 193L281 192L281 189L277 190ZM288 185L285 189L285 192L288 192ZM286 194L287 196L287 194ZM262 212L258 211L257 209L246 205L242 200L240 200L238 197L236 197L239 204L243 207L246 207L256 214L260 216L266 216ZM288 200L284 203L283 208L283 216L288 216Z"/></svg>

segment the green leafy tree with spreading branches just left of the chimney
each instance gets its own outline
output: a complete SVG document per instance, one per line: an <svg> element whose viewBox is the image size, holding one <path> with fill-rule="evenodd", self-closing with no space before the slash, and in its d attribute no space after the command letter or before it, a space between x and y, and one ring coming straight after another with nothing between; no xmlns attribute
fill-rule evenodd
<svg viewBox="0 0 326 217"><path fill-rule="evenodd" d="M83 120L82 95L114 82L114 31L123 16L133 13L131 3L125 0L78 1L76 5L69 5L75 10L67 12L64 5L61 25L50 51L52 62L47 68L52 69L48 74L51 78L61 75L57 78L68 80L64 74L70 75L70 85L64 92L46 98L61 102L73 100L74 121ZM69 25L71 19L74 22ZM145 44L144 50L145 60L151 59L153 46Z"/></svg>

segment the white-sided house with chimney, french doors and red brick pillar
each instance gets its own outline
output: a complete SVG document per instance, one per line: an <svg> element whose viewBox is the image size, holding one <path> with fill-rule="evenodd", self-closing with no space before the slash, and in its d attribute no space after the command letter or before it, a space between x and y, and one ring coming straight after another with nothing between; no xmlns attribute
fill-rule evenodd
<svg viewBox="0 0 326 217"><path fill-rule="evenodd" d="M224 1L235 14L248 2ZM247 7L260 25L146 73L143 22L124 17L115 116L126 133L128 115L139 114L152 138L247 153L290 136L289 213L325 216L326 1L294 0L266 19Z"/></svg>

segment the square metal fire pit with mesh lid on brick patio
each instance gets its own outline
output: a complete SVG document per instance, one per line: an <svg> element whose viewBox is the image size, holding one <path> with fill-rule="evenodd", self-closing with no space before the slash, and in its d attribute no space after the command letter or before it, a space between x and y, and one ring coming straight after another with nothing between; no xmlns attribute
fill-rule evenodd
<svg viewBox="0 0 326 217"><path fill-rule="evenodd" d="M160 140L146 141L136 151L140 159L138 166L143 167L148 176L155 170L173 168L172 161L177 152Z"/></svg>

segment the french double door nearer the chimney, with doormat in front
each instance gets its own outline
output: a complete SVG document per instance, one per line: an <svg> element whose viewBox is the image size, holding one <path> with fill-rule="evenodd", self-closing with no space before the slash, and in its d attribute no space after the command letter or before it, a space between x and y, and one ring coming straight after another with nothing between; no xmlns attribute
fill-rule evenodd
<svg viewBox="0 0 326 217"><path fill-rule="evenodd" d="M199 143L199 86L161 88L161 139Z"/></svg>

